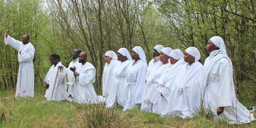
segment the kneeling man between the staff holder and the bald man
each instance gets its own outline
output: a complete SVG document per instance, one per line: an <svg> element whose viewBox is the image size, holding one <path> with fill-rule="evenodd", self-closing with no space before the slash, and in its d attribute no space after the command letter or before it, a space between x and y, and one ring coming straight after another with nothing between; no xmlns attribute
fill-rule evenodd
<svg viewBox="0 0 256 128"><path fill-rule="evenodd" d="M75 77L74 77L73 71L71 71L70 68L75 68L75 65L78 64L78 57L81 52L82 51L79 49L73 50L72 55L71 55L73 61L69 63L68 68L67 68L68 100L71 102L75 101L75 93L76 93L77 83L75 82Z"/></svg>

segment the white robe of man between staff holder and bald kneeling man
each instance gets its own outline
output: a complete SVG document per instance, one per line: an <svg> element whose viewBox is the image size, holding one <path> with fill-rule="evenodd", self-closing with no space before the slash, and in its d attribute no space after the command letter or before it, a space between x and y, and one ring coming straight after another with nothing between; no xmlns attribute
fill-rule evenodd
<svg viewBox="0 0 256 128"><path fill-rule="evenodd" d="M68 68L67 68L67 84L68 84L68 100L69 101L75 101L75 93L76 93L76 88L77 88L77 83L75 81L75 77L73 72L70 70L70 67L76 66L78 64L78 58L73 60L72 62L69 63Z"/></svg>

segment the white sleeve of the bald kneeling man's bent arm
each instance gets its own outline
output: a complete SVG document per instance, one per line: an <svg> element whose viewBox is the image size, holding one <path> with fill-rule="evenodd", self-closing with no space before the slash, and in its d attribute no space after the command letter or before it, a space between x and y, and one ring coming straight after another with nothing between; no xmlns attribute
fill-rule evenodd
<svg viewBox="0 0 256 128"><path fill-rule="evenodd" d="M79 74L79 85L86 86L93 78L95 77L95 69L89 69L86 71L86 73L80 73Z"/></svg>

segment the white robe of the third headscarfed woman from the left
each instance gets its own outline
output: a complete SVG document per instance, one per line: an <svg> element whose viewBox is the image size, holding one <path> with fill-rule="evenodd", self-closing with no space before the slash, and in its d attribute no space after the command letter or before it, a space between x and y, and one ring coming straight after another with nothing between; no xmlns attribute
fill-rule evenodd
<svg viewBox="0 0 256 128"><path fill-rule="evenodd" d="M124 111L134 109L136 105L141 104L146 86L146 68L147 64L141 60L134 65L133 62L128 65L125 73L127 83Z"/></svg>

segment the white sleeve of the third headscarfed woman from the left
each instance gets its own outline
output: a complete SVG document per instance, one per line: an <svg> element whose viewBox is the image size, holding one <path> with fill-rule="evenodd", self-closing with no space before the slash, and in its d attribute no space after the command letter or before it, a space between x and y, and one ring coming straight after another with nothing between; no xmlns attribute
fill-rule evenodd
<svg viewBox="0 0 256 128"><path fill-rule="evenodd" d="M146 67L143 65L137 71L135 103L142 102L145 86L146 86Z"/></svg>

